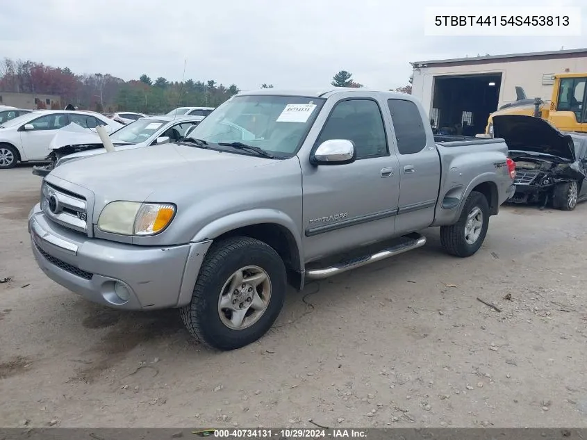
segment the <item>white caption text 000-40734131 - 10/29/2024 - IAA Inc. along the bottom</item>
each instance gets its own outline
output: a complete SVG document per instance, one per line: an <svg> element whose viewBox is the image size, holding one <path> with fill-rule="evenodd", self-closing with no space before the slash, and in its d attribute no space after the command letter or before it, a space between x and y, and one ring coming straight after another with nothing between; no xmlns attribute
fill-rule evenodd
<svg viewBox="0 0 587 440"><path fill-rule="evenodd" d="M356 438L366 439L366 430L357 429L256 429L256 430L214 430L214 437L221 439L327 439Z"/></svg>

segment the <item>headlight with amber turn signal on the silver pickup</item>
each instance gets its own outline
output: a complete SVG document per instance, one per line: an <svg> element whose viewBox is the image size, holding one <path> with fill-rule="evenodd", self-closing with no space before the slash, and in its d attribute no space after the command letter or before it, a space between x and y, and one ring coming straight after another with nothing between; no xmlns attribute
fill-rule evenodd
<svg viewBox="0 0 587 440"><path fill-rule="evenodd" d="M174 215L173 204L110 202L98 218L98 228L113 234L155 235L171 223Z"/></svg>

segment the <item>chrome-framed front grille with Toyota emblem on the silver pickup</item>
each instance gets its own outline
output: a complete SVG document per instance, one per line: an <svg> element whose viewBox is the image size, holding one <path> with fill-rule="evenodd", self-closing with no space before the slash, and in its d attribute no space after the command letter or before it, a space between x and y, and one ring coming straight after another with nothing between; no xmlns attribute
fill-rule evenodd
<svg viewBox="0 0 587 440"><path fill-rule="evenodd" d="M85 197L44 183L41 209L53 222L74 231L88 233L88 211Z"/></svg>

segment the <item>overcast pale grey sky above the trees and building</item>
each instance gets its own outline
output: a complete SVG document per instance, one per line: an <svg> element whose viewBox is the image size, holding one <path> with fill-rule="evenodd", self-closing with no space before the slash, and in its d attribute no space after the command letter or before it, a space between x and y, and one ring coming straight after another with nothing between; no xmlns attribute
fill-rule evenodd
<svg viewBox="0 0 587 440"><path fill-rule="evenodd" d="M517 0L516 6L581 6L584 0ZM241 90L328 86L339 70L370 88L408 84L413 61L587 47L580 37L431 37L424 8L504 0L18 0L3 1L0 58L109 73L147 74Z"/></svg>

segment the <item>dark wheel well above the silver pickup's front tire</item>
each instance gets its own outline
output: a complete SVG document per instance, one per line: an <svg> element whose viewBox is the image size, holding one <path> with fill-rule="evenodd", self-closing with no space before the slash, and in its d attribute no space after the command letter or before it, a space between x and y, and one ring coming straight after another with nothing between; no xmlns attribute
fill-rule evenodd
<svg viewBox="0 0 587 440"><path fill-rule="evenodd" d="M273 247L286 265L289 283L295 288L300 288L303 282L300 275L303 270L302 263L299 260L299 250L295 238L286 227L275 223L259 223L258 225L244 226L225 232L221 236L214 238L214 241L233 236L256 238Z"/></svg>

